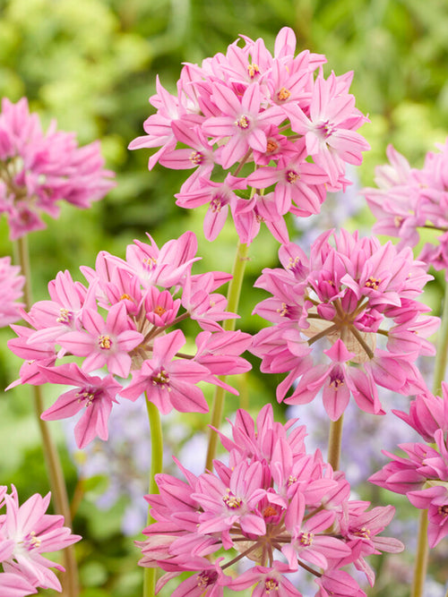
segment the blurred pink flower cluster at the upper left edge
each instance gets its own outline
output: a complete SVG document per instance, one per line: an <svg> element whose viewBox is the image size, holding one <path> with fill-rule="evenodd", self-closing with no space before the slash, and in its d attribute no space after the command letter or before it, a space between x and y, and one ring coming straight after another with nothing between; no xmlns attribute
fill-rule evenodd
<svg viewBox="0 0 448 597"><path fill-rule="evenodd" d="M99 143L79 148L72 132L42 131L39 116L28 101L2 100L0 114L0 213L5 213L15 240L45 228L41 212L58 217L57 201L88 208L115 183L104 170Z"/></svg>

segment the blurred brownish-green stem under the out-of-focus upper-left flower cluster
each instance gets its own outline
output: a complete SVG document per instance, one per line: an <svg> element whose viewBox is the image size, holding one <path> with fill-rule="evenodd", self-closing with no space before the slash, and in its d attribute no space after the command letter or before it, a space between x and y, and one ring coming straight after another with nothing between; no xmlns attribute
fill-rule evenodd
<svg viewBox="0 0 448 597"><path fill-rule="evenodd" d="M25 300L25 308L30 310L32 304L31 293L31 269L30 269L30 252L28 250L27 237L22 236L16 243L17 261L22 269L22 275L25 277L25 285L23 287L23 294ZM31 386L31 394L34 402L34 410L38 420L40 437L42 439L42 449L44 452L45 462L47 465L48 478L51 488L51 495L54 499L55 510L59 515L64 516L65 525L72 528L72 515L70 512L70 503L67 496L67 489L65 487L64 471L61 465L59 455L57 453L55 442L53 441L47 422L42 421L40 415L44 411L44 402L42 397L42 388L40 386ZM78 567L74 554L74 546L70 545L63 550L65 577L64 577L64 594L66 597L76 597L79 594L78 585Z"/></svg>

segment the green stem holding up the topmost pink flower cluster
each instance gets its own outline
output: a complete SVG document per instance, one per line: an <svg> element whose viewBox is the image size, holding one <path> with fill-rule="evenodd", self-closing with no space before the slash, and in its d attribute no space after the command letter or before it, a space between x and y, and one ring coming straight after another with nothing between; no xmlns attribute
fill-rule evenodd
<svg viewBox="0 0 448 597"><path fill-rule="evenodd" d="M243 286L243 278L245 276L246 262L247 262L248 247L246 244L238 243L237 254L233 264L232 279L228 285L227 295L227 309L233 313L237 312L239 297L241 294L241 287ZM236 320L225 320L223 328L232 331L235 329ZM225 380L226 376L221 376L221 380ZM219 386L215 389L215 395L213 397L213 405L211 407L211 425L215 429L220 428L222 420L222 413L224 410L224 397L226 396L226 390ZM207 449L207 459L205 468L212 470L213 458L216 455L216 447L218 444L218 434L216 431L209 431L209 447Z"/></svg>

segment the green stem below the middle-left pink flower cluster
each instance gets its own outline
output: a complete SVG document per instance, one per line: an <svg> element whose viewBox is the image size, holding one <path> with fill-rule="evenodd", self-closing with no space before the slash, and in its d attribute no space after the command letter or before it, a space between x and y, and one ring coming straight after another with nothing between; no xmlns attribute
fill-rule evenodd
<svg viewBox="0 0 448 597"><path fill-rule="evenodd" d="M162 472L163 467L163 436L159 409L146 397L146 409L150 420L151 431L151 473L149 493L159 493L156 482L156 474ZM148 510L148 526L154 522ZM143 597L154 597L156 590L157 568L144 568L143 572Z"/></svg>

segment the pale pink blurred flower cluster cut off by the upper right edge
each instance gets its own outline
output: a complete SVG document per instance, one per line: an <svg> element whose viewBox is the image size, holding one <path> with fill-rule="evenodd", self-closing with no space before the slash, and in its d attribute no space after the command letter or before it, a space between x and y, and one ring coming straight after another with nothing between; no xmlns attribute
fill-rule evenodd
<svg viewBox="0 0 448 597"><path fill-rule="evenodd" d="M418 259L438 270L448 267L448 139L436 147L439 152L428 152L418 169L390 145L390 164L376 168L378 188L364 189L364 194L378 219L375 232L400 238L400 246L416 246L419 229L437 232L437 242L426 243Z"/></svg>

